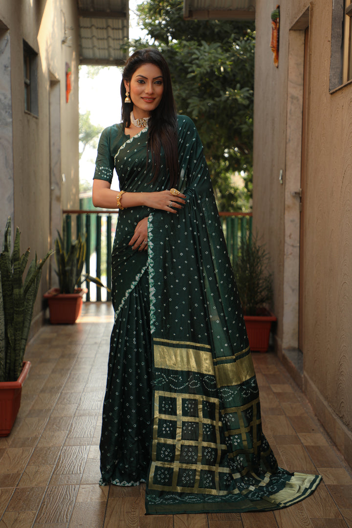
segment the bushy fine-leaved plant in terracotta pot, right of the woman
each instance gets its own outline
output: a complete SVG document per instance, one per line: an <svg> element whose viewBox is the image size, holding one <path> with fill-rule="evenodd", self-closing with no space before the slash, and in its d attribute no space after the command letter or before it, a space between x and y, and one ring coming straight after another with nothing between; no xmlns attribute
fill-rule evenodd
<svg viewBox="0 0 352 528"><path fill-rule="evenodd" d="M256 237L241 240L233 268L252 351L268 350L271 325L277 320L269 310L273 296L269 262L269 254Z"/></svg>

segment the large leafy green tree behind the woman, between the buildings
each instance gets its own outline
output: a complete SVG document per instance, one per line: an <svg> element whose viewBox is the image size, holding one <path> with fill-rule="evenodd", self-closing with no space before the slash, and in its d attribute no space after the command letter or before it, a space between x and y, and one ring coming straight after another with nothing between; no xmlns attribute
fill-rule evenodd
<svg viewBox="0 0 352 528"><path fill-rule="evenodd" d="M251 195L254 24L185 21L182 0L147 0L137 11L149 43L133 41L132 48L152 42L163 52L178 112L201 136L218 206L240 209L240 194L247 202ZM233 184L235 172L245 176L244 190Z"/></svg>

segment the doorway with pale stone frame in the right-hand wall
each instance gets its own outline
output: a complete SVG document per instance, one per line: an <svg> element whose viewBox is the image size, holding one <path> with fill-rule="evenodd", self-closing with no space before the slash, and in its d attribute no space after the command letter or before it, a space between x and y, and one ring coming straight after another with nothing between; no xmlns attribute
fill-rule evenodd
<svg viewBox="0 0 352 528"><path fill-rule="evenodd" d="M302 373L309 7L289 31L281 350Z"/></svg>

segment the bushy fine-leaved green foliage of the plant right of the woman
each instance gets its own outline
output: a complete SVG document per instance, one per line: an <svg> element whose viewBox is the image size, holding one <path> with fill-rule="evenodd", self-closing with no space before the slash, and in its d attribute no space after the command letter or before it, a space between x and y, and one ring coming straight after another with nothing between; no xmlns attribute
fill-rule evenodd
<svg viewBox="0 0 352 528"><path fill-rule="evenodd" d="M233 270L244 315L261 315L273 296L270 257L256 237L244 238Z"/></svg>

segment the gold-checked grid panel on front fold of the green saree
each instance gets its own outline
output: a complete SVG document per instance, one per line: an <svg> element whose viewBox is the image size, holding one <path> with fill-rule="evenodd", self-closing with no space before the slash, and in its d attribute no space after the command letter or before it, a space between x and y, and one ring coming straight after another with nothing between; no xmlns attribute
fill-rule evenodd
<svg viewBox="0 0 352 528"><path fill-rule="evenodd" d="M156 391L155 410L149 489L228 493L232 478L218 399Z"/></svg>

